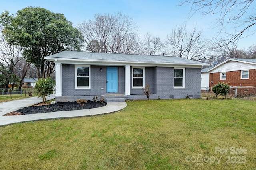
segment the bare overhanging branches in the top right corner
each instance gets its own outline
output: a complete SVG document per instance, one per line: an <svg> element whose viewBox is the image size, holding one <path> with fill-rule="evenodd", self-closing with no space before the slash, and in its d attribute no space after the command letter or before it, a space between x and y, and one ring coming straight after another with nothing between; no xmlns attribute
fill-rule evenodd
<svg viewBox="0 0 256 170"><path fill-rule="evenodd" d="M227 33L226 43L238 41L242 34L256 24L254 0L183 0L180 4L191 6L189 18L195 13L202 15L217 15L216 24L220 32L227 25L234 25L234 34ZM252 31L255 34L255 28Z"/></svg>

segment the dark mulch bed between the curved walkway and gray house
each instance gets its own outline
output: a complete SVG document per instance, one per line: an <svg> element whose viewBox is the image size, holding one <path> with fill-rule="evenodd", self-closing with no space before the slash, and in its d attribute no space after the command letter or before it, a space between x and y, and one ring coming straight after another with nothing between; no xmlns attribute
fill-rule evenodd
<svg viewBox="0 0 256 170"><path fill-rule="evenodd" d="M12 115L28 115L28 114L35 114L35 113L48 113L48 112L55 112L55 111L70 111L70 110L82 110L82 109L93 109L97 107L106 106L107 103L101 102L92 102L88 101L86 104L78 104L77 102L58 102L55 104L46 104L46 105L35 105L24 107L23 109L16 110L12 113L8 113L5 116L12 116Z"/></svg>

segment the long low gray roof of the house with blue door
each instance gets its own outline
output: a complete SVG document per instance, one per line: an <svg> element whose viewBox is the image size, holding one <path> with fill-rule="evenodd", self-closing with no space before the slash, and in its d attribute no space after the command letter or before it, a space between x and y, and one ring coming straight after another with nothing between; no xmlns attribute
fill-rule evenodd
<svg viewBox="0 0 256 170"><path fill-rule="evenodd" d="M198 61L183 59L171 56L155 55L134 55L134 54L116 54L116 53L93 53L82 51L62 51L54 55L45 57L47 60L65 60L68 61L119 61L120 63L162 63L162 64L189 64L189 65L209 65Z"/></svg>

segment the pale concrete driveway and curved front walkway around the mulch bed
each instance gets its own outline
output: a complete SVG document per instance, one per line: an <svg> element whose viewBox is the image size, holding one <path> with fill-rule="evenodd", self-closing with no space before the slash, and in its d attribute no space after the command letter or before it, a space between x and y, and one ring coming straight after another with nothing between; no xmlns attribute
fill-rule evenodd
<svg viewBox="0 0 256 170"><path fill-rule="evenodd" d="M0 103L0 126L9 125L12 123L26 122L26 121L37 121L37 120L49 120L49 119L62 119L62 118L73 118L73 117L84 117L92 115L101 115L106 113L113 113L120 111L126 107L126 102L108 102L106 106L98 107L94 109L84 109L75 111L57 111L50 113L37 113L30 115L16 115L16 116L3 116L6 113L16 111L23 107L32 106L42 102L42 99L38 102L35 101L37 97L14 100L10 102ZM54 95L47 98L53 99ZM34 100L33 100L34 99Z"/></svg>

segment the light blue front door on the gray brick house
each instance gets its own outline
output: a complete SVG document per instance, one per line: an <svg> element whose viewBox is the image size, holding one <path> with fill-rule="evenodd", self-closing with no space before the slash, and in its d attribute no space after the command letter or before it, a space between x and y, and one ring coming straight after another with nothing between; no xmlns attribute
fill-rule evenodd
<svg viewBox="0 0 256 170"><path fill-rule="evenodd" d="M117 67L107 67L107 92L118 92Z"/></svg>

